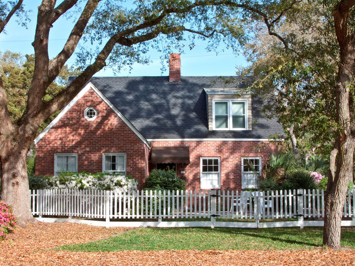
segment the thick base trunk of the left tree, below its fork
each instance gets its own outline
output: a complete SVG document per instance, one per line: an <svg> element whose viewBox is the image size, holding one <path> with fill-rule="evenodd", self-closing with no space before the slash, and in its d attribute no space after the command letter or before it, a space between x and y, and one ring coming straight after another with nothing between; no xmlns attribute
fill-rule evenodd
<svg viewBox="0 0 355 266"><path fill-rule="evenodd" d="M10 145L9 145L10 146ZM3 150L1 157L2 200L13 207L13 214L19 225L27 222L35 222L32 216L29 198L28 177L27 177L27 152L26 148L12 148Z"/></svg>

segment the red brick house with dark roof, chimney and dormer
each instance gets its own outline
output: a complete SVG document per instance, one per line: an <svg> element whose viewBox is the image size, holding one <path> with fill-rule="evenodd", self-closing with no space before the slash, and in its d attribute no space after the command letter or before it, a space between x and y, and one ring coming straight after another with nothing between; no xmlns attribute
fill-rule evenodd
<svg viewBox="0 0 355 266"><path fill-rule="evenodd" d="M231 79L226 83L226 79ZM240 94L238 77L181 77L170 54L169 77L94 77L35 139L35 173L118 172L144 187L153 168L174 169L188 189L255 187L283 134Z"/></svg>

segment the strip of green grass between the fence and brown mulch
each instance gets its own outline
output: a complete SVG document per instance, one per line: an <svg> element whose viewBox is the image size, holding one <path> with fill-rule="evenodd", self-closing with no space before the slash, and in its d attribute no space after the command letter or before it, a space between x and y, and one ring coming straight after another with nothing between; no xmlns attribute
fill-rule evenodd
<svg viewBox="0 0 355 266"><path fill-rule="evenodd" d="M68 251L120 250L297 250L322 245L322 227L231 229L231 228L142 228L84 244L65 245ZM355 229L342 228L341 245L355 248Z"/></svg>

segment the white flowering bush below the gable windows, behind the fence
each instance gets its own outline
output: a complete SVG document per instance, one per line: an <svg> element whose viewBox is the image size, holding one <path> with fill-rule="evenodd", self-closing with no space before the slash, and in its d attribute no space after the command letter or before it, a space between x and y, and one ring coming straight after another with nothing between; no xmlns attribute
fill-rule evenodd
<svg viewBox="0 0 355 266"><path fill-rule="evenodd" d="M137 189L137 180L127 175L97 173L61 173L47 178L49 189L97 189L116 192L131 192Z"/></svg>

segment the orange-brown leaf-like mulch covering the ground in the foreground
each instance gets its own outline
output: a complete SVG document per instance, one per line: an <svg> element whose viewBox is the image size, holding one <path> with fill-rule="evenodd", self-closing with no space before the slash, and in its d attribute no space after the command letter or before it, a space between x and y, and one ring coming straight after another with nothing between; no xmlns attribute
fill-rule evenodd
<svg viewBox="0 0 355 266"><path fill-rule="evenodd" d="M18 227L0 242L1 265L355 265L354 250L161 250L67 252L53 248L84 243L132 230L76 223Z"/></svg>

